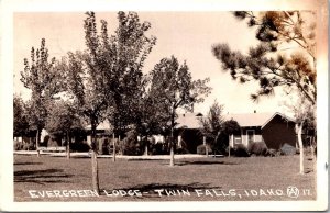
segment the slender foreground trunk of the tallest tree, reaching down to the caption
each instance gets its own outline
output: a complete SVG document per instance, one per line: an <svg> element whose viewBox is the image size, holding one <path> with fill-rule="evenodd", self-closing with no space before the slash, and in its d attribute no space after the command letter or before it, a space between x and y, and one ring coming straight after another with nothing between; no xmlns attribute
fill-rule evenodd
<svg viewBox="0 0 330 213"><path fill-rule="evenodd" d="M97 142L96 142L96 123L91 121L91 183L92 189L97 192L100 191L99 188L99 170L98 170L98 158L97 158Z"/></svg>

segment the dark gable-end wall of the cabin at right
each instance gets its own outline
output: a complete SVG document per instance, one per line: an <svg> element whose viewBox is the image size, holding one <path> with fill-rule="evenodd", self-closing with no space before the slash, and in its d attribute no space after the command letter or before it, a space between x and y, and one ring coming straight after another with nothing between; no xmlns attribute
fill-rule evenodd
<svg viewBox="0 0 330 213"><path fill-rule="evenodd" d="M296 146L295 123L276 115L263 127L262 136L268 148L279 149L285 143Z"/></svg>

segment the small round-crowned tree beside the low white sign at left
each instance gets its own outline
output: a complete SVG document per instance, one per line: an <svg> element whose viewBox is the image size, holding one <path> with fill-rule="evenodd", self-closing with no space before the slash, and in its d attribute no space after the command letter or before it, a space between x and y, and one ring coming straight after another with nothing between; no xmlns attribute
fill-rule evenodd
<svg viewBox="0 0 330 213"><path fill-rule="evenodd" d="M84 128L80 117L68 101L53 101L48 108L52 110L46 117L45 128L50 134L66 136L66 150L67 158L69 159L72 134L75 130Z"/></svg>

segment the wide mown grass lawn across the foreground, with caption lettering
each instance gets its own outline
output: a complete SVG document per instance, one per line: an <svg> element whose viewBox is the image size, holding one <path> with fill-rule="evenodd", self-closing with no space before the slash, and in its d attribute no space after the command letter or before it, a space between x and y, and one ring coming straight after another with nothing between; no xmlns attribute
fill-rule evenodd
<svg viewBox="0 0 330 213"><path fill-rule="evenodd" d="M98 164L101 192L96 197L88 191L91 190L90 158L68 160L65 157L42 156L37 158L35 155L15 155L14 199L15 201L292 201L316 199L314 162L306 157L306 173L301 176L298 173L298 155L183 158L176 160L175 167L168 166L169 160L118 159L113 162L111 158L99 158ZM287 195L287 188L290 186L299 189L298 198ZM29 193L29 190L33 195Z"/></svg>

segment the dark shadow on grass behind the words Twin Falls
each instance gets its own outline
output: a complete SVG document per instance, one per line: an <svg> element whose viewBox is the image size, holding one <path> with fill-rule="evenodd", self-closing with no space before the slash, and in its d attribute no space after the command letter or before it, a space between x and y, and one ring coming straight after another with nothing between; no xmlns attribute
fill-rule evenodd
<svg viewBox="0 0 330 213"><path fill-rule="evenodd" d="M129 188L123 189L112 189L112 190L122 190L128 192L129 190L139 190L142 193L142 197L132 197L135 199L144 199L144 198L161 198L160 193L164 197L184 197L188 195L189 193L194 193L195 190L205 190L210 188L209 183L199 183L199 182L193 182L189 184L175 184L175 183L150 183L150 184L136 184ZM221 188L218 188L221 189ZM102 189L101 195L106 195L105 191L107 193L111 193L112 190L109 189Z"/></svg>

